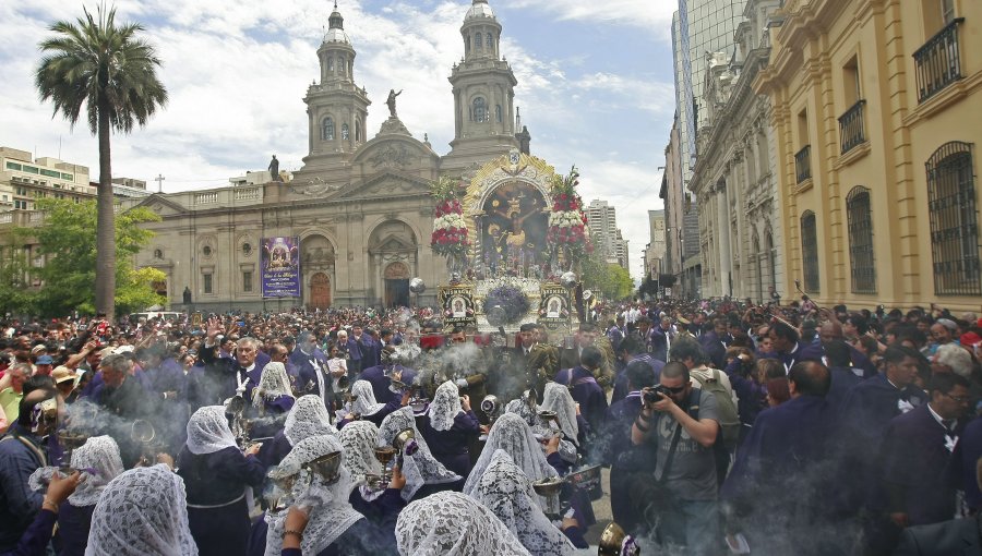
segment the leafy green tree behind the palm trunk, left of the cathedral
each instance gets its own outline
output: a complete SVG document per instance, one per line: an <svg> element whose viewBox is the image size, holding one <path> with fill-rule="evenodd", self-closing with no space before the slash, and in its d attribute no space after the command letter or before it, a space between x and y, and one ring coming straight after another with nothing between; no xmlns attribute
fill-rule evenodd
<svg viewBox="0 0 982 556"><path fill-rule="evenodd" d="M99 279L96 271L96 202L75 204L68 200L43 198L37 202L37 207L45 211L44 223L16 231L17 234L36 238L38 252L47 258L44 266L32 268L44 282L34 300L34 312L46 316L62 316L74 310L94 313L98 305L93 291ZM117 314L167 301L152 287L153 282L166 279L164 273L155 268L133 268L133 256L154 237L153 231L140 225L159 219L152 210L142 207L120 213L115 219Z"/></svg>

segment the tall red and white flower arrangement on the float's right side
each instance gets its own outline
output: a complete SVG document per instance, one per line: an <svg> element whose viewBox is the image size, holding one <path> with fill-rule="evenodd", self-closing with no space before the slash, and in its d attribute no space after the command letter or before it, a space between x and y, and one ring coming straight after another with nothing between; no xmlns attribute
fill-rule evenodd
<svg viewBox="0 0 982 556"><path fill-rule="evenodd" d="M573 259L583 258L594 252L594 244L587 231L587 218L583 213L583 200L576 193L579 172L574 166L565 177L553 178L550 193L552 213L549 215L547 241L553 251L563 252Z"/></svg>

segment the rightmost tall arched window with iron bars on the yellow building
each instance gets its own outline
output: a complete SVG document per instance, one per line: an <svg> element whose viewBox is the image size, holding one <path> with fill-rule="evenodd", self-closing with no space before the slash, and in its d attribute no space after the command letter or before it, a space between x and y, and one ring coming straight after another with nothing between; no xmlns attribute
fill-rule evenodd
<svg viewBox="0 0 982 556"><path fill-rule="evenodd" d="M924 166L934 293L982 295L972 145L960 141L946 143Z"/></svg>

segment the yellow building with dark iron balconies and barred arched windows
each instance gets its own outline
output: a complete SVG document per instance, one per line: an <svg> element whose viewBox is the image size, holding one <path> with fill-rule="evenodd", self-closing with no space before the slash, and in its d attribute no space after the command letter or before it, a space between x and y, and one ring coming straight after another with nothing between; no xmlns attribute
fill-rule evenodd
<svg viewBox="0 0 982 556"><path fill-rule="evenodd" d="M982 2L781 11L754 87L774 107L783 291L978 311Z"/></svg>

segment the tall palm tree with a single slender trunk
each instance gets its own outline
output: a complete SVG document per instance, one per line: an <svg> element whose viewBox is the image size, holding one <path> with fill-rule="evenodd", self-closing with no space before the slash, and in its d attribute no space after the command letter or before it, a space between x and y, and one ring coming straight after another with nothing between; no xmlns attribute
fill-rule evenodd
<svg viewBox="0 0 982 556"><path fill-rule="evenodd" d="M35 74L41 101L50 99L55 113L72 126L83 110L88 129L99 138L98 232L96 239L95 306L115 314L116 215L112 200L110 131L129 133L146 125L158 107L167 104L167 89L157 78L160 65L154 48L137 37L139 23L116 25L116 9L96 16L84 10L76 23L60 21L57 35L40 43L44 52Z"/></svg>

